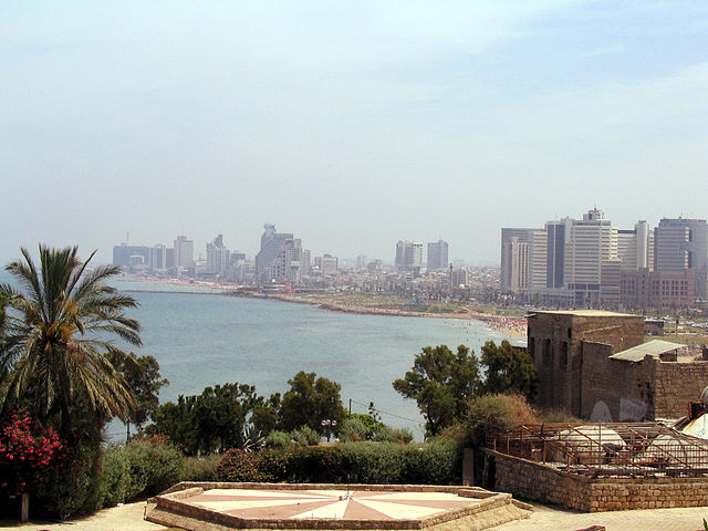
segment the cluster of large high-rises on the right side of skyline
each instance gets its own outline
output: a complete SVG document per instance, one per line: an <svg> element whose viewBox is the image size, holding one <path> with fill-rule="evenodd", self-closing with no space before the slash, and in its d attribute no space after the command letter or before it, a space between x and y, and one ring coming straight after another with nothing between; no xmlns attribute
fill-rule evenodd
<svg viewBox="0 0 708 531"><path fill-rule="evenodd" d="M705 219L618 228L596 208L543 228L501 229L500 290L565 306L690 305L706 299Z"/></svg>

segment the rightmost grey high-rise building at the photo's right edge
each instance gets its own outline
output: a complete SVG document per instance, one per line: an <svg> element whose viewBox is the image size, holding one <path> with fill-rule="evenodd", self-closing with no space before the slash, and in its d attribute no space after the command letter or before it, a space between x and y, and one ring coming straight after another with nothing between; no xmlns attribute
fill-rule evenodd
<svg viewBox="0 0 708 531"><path fill-rule="evenodd" d="M705 219L668 219L654 229L654 270L694 274L694 294L706 299L708 228Z"/></svg>

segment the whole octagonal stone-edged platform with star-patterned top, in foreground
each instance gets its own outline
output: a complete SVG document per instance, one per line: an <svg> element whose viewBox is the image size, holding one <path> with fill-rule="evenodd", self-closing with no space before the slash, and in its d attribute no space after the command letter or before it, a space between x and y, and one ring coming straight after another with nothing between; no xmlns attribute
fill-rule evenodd
<svg viewBox="0 0 708 531"><path fill-rule="evenodd" d="M473 487L183 482L146 520L186 530L481 530L528 518L511 494Z"/></svg>

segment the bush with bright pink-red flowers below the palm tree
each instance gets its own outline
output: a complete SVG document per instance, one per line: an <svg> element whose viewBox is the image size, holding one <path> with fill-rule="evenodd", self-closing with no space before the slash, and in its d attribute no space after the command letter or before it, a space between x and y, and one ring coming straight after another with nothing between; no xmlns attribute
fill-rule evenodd
<svg viewBox="0 0 708 531"><path fill-rule="evenodd" d="M0 424L0 491L29 492L62 466L64 442L51 429L40 430L27 412L17 412Z"/></svg>

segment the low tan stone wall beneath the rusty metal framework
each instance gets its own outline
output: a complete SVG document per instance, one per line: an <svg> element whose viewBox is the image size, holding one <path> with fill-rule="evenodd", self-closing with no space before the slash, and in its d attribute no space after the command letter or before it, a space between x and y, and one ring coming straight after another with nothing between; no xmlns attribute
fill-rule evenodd
<svg viewBox="0 0 708 531"><path fill-rule="evenodd" d="M708 504L708 478L591 479L487 450L497 491L585 512Z"/></svg>

